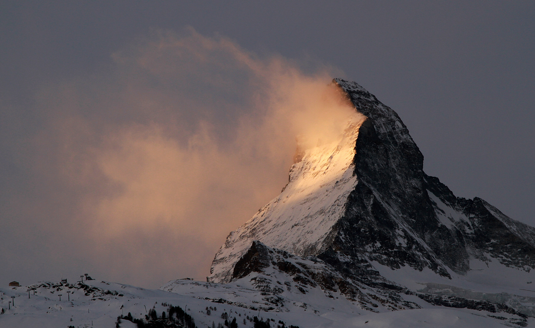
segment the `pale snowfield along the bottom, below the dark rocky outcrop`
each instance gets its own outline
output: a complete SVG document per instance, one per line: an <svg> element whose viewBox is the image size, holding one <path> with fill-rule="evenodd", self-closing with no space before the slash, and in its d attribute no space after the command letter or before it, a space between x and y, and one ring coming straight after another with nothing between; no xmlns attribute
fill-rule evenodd
<svg viewBox="0 0 535 328"><path fill-rule="evenodd" d="M491 317L496 316L492 312L433 306L412 295L406 295L407 300L418 303L421 309L380 313L357 311L354 304L340 293L331 292L333 298L329 298L324 296L321 288L310 286L305 294L288 292L282 281L281 286L284 288L281 289L285 292L279 295L284 304L274 306L265 301L264 294L271 293L260 291L258 284L254 284L255 280L251 283L252 278L282 277L254 273L229 284L182 279L170 281L161 288L163 290L97 280L72 285L47 282L32 286L3 287L0 288L0 306L5 312L0 315L0 327L111 328L116 327L118 316L127 316L128 312L133 318L144 318L154 308L159 317L163 311L166 311L168 317L169 304L187 309L187 314L194 318L195 325L199 328L212 327L212 323L216 327L218 324L224 325L225 319L221 318L224 313L228 315L228 322L235 317L241 328L252 328L254 316L263 321L273 319L270 321L271 327L282 326L279 323L281 321L287 327L294 325L301 328L505 327L506 323ZM36 288L35 295L31 291L29 299L28 288ZM67 291L72 292L70 296L67 296ZM61 301L58 294L62 294ZM8 310L7 302L13 300L11 296L16 296L15 305ZM207 307L211 309L210 315ZM268 310L269 308L272 309ZM535 326L532 318L528 319L528 323L529 326ZM137 327L126 319L121 320L119 326Z"/></svg>

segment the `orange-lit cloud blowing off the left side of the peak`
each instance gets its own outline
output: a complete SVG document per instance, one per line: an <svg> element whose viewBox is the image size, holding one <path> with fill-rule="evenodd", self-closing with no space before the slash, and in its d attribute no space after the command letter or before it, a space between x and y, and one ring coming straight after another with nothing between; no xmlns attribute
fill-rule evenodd
<svg viewBox="0 0 535 328"><path fill-rule="evenodd" d="M207 274L227 233L286 184L296 136L333 142L355 114L330 68L305 74L194 31L113 58L110 72L42 90L31 156L54 201L27 211L61 227L66 256L83 249L121 278Z"/></svg>

